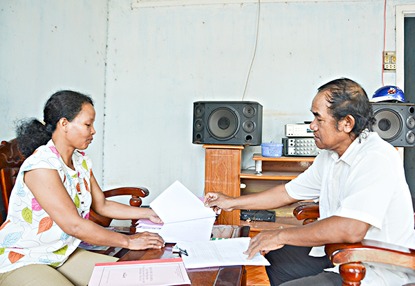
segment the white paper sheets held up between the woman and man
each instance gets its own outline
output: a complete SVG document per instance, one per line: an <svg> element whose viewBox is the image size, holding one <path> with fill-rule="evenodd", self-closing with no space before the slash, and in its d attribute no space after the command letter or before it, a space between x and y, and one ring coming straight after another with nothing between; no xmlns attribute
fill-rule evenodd
<svg viewBox="0 0 415 286"><path fill-rule="evenodd" d="M158 234L165 242L210 240L216 213L181 182L175 181L150 207L164 222Z"/></svg>

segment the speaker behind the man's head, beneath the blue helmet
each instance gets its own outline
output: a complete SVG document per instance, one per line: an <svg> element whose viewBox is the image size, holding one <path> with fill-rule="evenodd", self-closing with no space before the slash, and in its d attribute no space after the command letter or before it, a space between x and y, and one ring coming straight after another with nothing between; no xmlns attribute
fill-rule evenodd
<svg viewBox="0 0 415 286"><path fill-rule="evenodd" d="M376 123L374 130L395 147L415 145L414 103L371 103Z"/></svg>

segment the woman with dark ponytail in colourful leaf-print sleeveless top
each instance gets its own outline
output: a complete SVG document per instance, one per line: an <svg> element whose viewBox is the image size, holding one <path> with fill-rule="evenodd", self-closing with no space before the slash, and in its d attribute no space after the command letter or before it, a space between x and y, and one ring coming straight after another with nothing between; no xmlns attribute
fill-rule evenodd
<svg viewBox="0 0 415 286"><path fill-rule="evenodd" d="M81 241L127 249L160 249L155 233L124 235L88 220L89 210L118 220L160 218L151 208L107 201L84 150L91 144L95 110L89 96L59 91L44 120L17 128L22 164L0 227L0 285L87 285L95 262L116 258L77 249ZM36 284L37 283L37 284Z"/></svg>

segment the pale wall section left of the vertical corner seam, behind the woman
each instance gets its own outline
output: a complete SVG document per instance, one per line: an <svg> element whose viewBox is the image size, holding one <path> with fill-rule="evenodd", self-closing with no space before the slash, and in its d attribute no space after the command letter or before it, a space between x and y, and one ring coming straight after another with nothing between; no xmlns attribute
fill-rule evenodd
<svg viewBox="0 0 415 286"><path fill-rule="evenodd" d="M107 1L0 1L0 140L15 138L17 118L43 119L55 91L95 100L97 134L88 152L102 181Z"/></svg>

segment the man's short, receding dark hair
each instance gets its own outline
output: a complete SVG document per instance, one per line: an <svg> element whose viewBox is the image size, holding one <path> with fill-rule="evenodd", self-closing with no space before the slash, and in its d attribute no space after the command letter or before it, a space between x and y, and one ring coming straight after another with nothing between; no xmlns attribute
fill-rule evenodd
<svg viewBox="0 0 415 286"><path fill-rule="evenodd" d="M322 85L318 91L328 91L327 102L330 103L329 109L331 116L335 118L336 127L340 120L351 115L355 119L351 132L357 137L365 129L374 131L373 126L376 122L374 112L366 91L360 87L360 84L348 78L339 78Z"/></svg>

